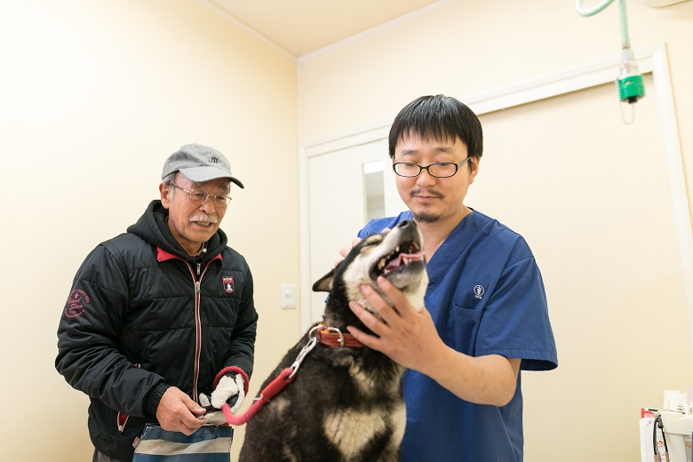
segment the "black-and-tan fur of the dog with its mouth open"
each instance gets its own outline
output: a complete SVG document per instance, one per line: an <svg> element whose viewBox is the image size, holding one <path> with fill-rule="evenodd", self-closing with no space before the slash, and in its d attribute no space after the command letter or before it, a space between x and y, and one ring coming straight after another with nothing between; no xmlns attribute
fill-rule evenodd
<svg viewBox="0 0 693 462"><path fill-rule="evenodd" d="M428 277L421 234L404 221L386 234L358 243L337 267L317 281L314 291L329 291L323 324L347 333L352 325L370 332L348 307L349 300L370 309L360 286L376 291L378 275L399 288L420 310ZM308 332L284 356L262 388L291 367ZM363 347L317 343L294 381L251 418L240 460L397 461L405 425L402 366Z"/></svg>

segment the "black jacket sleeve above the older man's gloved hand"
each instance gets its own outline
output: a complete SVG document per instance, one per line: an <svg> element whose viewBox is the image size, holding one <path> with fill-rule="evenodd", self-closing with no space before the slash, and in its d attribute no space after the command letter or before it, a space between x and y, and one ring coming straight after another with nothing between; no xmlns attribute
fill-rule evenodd
<svg viewBox="0 0 693 462"><path fill-rule="evenodd" d="M227 350L225 366L237 366L251 377L255 358L255 336L258 327L258 312L253 300L251 269L243 260L244 283L241 307L234 332Z"/></svg>

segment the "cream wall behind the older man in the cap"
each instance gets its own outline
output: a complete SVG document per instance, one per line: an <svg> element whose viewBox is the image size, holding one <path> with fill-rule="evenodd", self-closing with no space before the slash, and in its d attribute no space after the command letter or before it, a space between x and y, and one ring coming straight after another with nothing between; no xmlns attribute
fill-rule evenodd
<svg viewBox="0 0 693 462"><path fill-rule="evenodd" d="M188 142L245 184L222 228L255 277L259 386L299 331L279 307L299 284L295 61L194 0L27 0L0 3L0 62L0 459L90 460L87 400L53 367L60 314Z"/></svg>

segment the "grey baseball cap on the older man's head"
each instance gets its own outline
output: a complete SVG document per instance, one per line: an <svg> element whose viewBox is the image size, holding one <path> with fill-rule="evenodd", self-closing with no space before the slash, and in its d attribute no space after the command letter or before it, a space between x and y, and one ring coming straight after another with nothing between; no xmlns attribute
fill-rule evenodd
<svg viewBox="0 0 693 462"><path fill-rule="evenodd" d="M209 146L196 143L181 146L163 163L161 178L164 179L175 171L181 172L188 179L198 183L210 179L227 178L239 187L243 187L241 180L231 174L231 164L228 163L228 159Z"/></svg>

